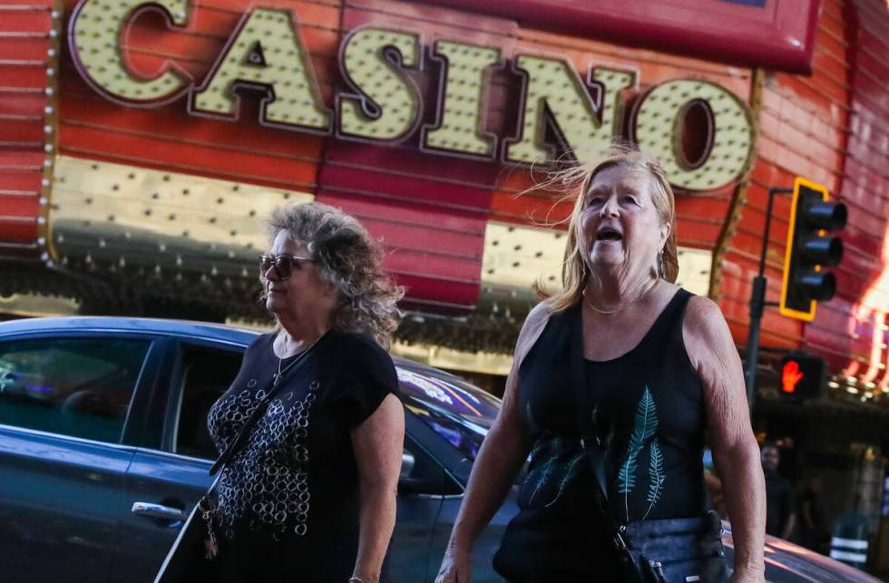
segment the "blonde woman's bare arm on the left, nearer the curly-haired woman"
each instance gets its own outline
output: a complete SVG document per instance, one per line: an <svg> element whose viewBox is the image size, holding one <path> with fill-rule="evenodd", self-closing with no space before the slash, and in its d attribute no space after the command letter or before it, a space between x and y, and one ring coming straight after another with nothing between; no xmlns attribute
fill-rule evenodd
<svg viewBox="0 0 889 583"><path fill-rule="evenodd" d="M503 407L484 438L469 476L466 493L445 551L437 583L466 583L475 539L503 504L528 457L530 444L519 410L518 372L522 360L543 331L548 307L540 304L528 315L515 346L513 368L506 379Z"/></svg>

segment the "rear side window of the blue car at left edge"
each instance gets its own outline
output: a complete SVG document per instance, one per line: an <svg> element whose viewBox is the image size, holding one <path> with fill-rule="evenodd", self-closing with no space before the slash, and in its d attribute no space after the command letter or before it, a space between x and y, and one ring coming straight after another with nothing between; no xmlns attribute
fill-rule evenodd
<svg viewBox="0 0 889 583"><path fill-rule="evenodd" d="M150 344L108 337L0 342L0 423L120 442Z"/></svg>

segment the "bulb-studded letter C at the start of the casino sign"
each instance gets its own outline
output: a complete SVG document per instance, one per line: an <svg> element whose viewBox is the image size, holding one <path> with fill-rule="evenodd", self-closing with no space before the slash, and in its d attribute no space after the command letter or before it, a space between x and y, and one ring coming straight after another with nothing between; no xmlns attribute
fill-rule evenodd
<svg viewBox="0 0 889 583"><path fill-rule="evenodd" d="M121 50L125 28L142 10L161 10L172 24L188 24L189 0L82 0L68 25L74 64L87 83L113 101L156 105L176 99L190 77L166 61L163 73L145 79L130 71Z"/></svg>

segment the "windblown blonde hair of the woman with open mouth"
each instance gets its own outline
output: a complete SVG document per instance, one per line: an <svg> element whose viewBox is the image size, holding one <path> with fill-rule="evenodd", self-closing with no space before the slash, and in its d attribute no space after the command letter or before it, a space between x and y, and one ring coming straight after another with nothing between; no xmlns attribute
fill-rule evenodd
<svg viewBox="0 0 889 583"><path fill-rule="evenodd" d="M649 158L634 146L625 143L614 144L603 157L578 162L571 168L557 171L548 180L550 184L558 184L568 189L568 199L574 198L574 209L568 222L565 257L562 261L562 289L547 300L552 313L562 312L580 302L587 277L594 275L590 273L590 267L584 261L579 243L581 214L585 209L586 192L592 180L601 170L618 166L644 171L650 176L651 200L660 219L669 224L669 236L661 256L663 272L659 273L659 277L675 283L676 277L679 276L679 257L676 252L676 202L667 175L656 160ZM538 291L545 294L540 286Z"/></svg>

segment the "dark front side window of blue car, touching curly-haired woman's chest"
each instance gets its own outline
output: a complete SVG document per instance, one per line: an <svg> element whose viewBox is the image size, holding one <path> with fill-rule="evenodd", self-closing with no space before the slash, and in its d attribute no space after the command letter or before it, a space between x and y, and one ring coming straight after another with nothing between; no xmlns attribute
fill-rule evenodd
<svg viewBox="0 0 889 583"><path fill-rule="evenodd" d="M207 430L207 413L238 376L242 357L240 352L190 345L182 347L182 389L173 438L174 452L206 460L215 460L219 456Z"/></svg>

